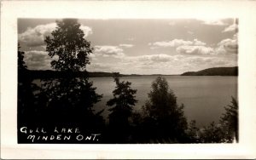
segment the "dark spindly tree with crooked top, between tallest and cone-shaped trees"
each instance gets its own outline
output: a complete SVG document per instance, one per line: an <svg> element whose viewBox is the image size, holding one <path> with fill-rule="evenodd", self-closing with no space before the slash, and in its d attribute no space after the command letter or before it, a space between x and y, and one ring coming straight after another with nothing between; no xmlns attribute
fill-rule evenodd
<svg viewBox="0 0 256 160"><path fill-rule="evenodd" d="M133 106L137 103L135 95L136 89L131 89L131 83L119 81L119 73L114 74L116 87L113 90L113 99L108 100L107 106L113 106L109 109L109 127L110 132L114 133L113 139L119 143L128 141L131 132L129 117L131 117Z"/></svg>

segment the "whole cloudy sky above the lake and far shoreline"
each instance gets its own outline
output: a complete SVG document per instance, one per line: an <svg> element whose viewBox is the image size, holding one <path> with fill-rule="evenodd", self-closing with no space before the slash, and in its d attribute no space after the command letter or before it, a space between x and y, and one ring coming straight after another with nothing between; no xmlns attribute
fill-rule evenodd
<svg viewBox="0 0 256 160"><path fill-rule="evenodd" d="M237 66L236 19L79 19L94 48L87 71L181 74ZM31 70L51 70L44 38L55 19L19 19L18 42Z"/></svg>

